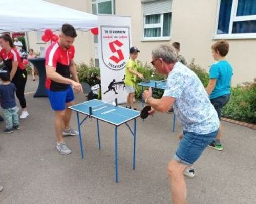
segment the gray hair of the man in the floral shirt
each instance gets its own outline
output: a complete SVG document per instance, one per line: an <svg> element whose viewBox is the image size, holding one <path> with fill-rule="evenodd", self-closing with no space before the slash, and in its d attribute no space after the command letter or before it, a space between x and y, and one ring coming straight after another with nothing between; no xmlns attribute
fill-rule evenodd
<svg viewBox="0 0 256 204"><path fill-rule="evenodd" d="M176 63L177 60L177 52L175 48L171 45L160 45L152 50L152 56L154 58L162 58L164 62Z"/></svg>

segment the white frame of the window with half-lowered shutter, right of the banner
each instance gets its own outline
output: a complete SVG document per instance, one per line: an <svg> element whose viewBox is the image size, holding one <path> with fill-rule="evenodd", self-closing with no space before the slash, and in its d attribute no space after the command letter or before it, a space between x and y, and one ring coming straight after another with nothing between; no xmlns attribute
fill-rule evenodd
<svg viewBox="0 0 256 204"><path fill-rule="evenodd" d="M172 12L168 12L171 13ZM142 40L141 41L165 41L165 40L170 40L171 36L172 36L172 28L170 28L170 35L169 36L163 36L163 16L165 13L159 13L160 14L160 23L155 23L155 24L146 24L146 16L144 16L143 13L143 32L142 32ZM150 15L148 15L150 16ZM172 17L171 17L171 21L172 21ZM161 32L160 35L161 36L157 36L157 37L144 37L144 30L145 29L150 29L150 28L160 28Z"/></svg>

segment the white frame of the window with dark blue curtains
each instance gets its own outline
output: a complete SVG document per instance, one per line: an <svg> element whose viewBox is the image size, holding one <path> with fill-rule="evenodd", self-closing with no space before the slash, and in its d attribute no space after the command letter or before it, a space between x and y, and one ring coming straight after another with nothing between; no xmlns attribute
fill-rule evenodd
<svg viewBox="0 0 256 204"><path fill-rule="evenodd" d="M218 40L218 39L256 38L256 33L232 33L233 22L256 20L256 15L236 16L237 10L238 10L238 1L239 0L233 0L233 3L232 3L228 34L218 34L217 32L218 32L218 23L219 23L220 6L221 6L221 0L218 0L214 39Z"/></svg>

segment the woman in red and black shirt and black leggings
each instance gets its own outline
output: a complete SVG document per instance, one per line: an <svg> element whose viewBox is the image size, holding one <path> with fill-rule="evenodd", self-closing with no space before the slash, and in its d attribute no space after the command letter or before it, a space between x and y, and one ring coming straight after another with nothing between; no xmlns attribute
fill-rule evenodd
<svg viewBox="0 0 256 204"><path fill-rule="evenodd" d="M11 80L16 86L16 95L22 107L20 119L24 119L29 115L24 97L27 71L22 63L22 58L14 48L12 38L8 34L0 36L0 45L2 47L0 50L0 61L4 62L5 67L3 69L10 72Z"/></svg>

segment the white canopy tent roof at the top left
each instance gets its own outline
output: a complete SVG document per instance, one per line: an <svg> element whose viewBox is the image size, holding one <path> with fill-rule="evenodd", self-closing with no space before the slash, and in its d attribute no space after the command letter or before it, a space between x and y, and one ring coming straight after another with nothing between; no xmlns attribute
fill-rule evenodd
<svg viewBox="0 0 256 204"><path fill-rule="evenodd" d="M59 30L69 23L76 30L98 26L98 17L43 0L1 0L0 33Z"/></svg>

